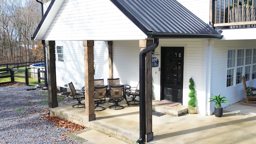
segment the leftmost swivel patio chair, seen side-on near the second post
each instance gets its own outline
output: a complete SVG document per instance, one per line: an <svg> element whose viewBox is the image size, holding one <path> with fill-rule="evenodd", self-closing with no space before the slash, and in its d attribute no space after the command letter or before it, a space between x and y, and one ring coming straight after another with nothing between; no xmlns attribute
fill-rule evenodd
<svg viewBox="0 0 256 144"><path fill-rule="evenodd" d="M70 82L68 85L70 87L70 91L73 96L73 100L76 99L78 101L77 104L72 105L72 107L73 108L84 108L85 104L81 103L81 100L85 98L84 92L77 92L77 91L81 91L81 90L76 90L72 82ZM77 105L77 107L75 107L76 105ZM79 105L82 105L82 106L79 107Z"/></svg>

